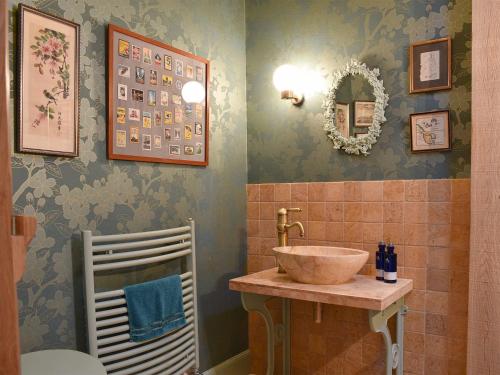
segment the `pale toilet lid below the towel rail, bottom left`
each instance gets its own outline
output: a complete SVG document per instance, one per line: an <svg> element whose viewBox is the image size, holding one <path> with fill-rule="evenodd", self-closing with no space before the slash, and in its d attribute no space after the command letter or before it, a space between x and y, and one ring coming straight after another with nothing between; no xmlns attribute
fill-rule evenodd
<svg viewBox="0 0 500 375"><path fill-rule="evenodd" d="M75 350L41 350L21 355L22 375L106 375L96 358Z"/></svg>

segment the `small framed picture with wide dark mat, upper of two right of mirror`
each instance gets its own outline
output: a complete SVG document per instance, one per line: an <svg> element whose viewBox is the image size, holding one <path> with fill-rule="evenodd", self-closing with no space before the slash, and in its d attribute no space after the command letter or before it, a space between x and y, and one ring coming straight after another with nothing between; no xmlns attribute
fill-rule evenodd
<svg viewBox="0 0 500 375"><path fill-rule="evenodd" d="M451 89L451 39L413 43L408 75L410 94Z"/></svg>

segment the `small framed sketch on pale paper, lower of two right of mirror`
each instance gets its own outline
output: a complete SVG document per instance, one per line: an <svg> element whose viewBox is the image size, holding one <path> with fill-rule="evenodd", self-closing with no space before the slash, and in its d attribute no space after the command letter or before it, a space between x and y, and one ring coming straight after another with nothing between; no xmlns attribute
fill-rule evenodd
<svg viewBox="0 0 500 375"><path fill-rule="evenodd" d="M411 151L451 150L449 111L414 113L410 115Z"/></svg>

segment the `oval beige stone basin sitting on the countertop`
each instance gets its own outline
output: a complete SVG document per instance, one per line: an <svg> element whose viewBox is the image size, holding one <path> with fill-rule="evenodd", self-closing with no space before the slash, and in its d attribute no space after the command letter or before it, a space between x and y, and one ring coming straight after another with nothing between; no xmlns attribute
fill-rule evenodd
<svg viewBox="0 0 500 375"><path fill-rule="evenodd" d="M349 281L368 260L368 252L330 246L273 248L279 264L292 280L328 285Z"/></svg>

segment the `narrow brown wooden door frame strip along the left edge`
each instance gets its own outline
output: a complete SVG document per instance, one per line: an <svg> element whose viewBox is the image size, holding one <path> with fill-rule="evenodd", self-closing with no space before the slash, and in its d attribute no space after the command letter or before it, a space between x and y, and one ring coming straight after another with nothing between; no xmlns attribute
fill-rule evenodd
<svg viewBox="0 0 500 375"><path fill-rule="evenodd" d="M0 1L0 375L18 375L19 324L12 262L12 175L9 145L7 2Z"/></svg>

